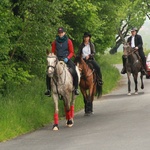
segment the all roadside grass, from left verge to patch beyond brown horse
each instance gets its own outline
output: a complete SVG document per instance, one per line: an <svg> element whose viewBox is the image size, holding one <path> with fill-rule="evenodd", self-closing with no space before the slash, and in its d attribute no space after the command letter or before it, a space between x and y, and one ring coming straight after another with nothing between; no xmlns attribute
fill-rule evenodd
<svg viewBox="0 0 150 150"><path fill-rule="evenodd" d="M103 75L103 94L117 86L120 73L112 66L121 63L121 54L97 57ZM45 79L35 79L23 87L11 87L9 94L0 99L0 141L36 130L53 122L54 104L44 96ZM75 111L84 107L82 95L77 96ZM63 101L59 101L59 118L64 118Z"/></svg>

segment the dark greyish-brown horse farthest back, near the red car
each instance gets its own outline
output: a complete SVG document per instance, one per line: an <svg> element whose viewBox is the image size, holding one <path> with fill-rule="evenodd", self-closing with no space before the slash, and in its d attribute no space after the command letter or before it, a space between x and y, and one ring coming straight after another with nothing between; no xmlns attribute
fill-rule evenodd
<svg viewBox="0 0 150 150"><path fill-rule="evenodd" d="M142 61L136 50L134 50L128 43L124 43L123 45L124 53L126 54L126 71L128 77L128 95L131 95L131 74L134 78L135 83L135 94L138 94L138 72L141 72L141 89L144 89L143 84L143 73L142 73Z"/></svg>

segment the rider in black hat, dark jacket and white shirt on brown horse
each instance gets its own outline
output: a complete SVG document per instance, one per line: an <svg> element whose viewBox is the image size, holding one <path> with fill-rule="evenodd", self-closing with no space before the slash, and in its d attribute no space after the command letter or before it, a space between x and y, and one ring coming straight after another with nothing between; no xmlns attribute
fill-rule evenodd
<svg viewBox="0 0 150 150"><path fill-rule="evenodd" d="M85 62L92 64L92 66L96 70L98 83L102 85L103 82L102 82L102 74L101 74L100 66L94 60L94 54L95 54L95 47L94 44L91 42L91 34L85 32L83 35L83 41L79 46L77 55L82 56Z"/></svg>

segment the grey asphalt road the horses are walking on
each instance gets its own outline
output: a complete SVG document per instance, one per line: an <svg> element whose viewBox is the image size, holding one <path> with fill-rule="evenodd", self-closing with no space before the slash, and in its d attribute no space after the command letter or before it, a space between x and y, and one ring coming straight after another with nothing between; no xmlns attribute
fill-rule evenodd
<svg viewBox="0 0 150 150"><path fill-rule="evenodd" d="M122 76L117 89L94 101L92 116L78 112L72 128L62 120L59 131L50 124L0 143L0 150L150 150L150 79L144 77L145 89L131 96L126 79Z"/></svg>

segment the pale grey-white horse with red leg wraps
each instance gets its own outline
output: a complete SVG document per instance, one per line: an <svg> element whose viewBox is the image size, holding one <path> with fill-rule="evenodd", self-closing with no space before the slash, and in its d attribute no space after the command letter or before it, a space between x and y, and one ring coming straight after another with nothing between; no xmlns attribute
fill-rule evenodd
<svg viewBox="0 0 150 150"><path fill-rule="evenodd" d="M60 97L62 97L64 100L66 125L68 127L72 127L74 123L73 118L75 103L73 77L70 74L67 65L63 61L59 61L57 56L53 53L48 54L47 62L47 73L48 76L51 78L52 98L54 100L55 105L53 130L59 130L58 101ZM78 78L80 79L80 73L78 69L77 74Z"/></svg>

